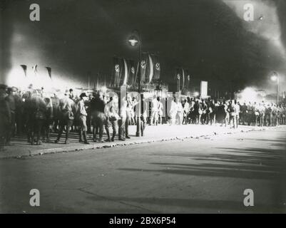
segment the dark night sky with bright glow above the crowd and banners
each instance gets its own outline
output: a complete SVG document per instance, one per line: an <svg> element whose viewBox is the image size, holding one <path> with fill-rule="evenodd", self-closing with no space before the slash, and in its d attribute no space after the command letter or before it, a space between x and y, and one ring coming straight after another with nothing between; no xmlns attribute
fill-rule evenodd
<svg viewBox="0 0 286 228"><path fill-rule="evenodd" d="M243 21L247 2L262 21ZM41 21L29 20L32 3L40 5ZM127 42L136 28L143 51L159 54L167 83L175 83L182 66L193 84L274 91L272 71L285 88L285 15L283 0L2 0L1 82L18 77L20 64L36 63L40 72L50 66L54 77L78 86L87 86L89 71L93 81L98 73L108 81L113 56L138 58Z"/></svg>

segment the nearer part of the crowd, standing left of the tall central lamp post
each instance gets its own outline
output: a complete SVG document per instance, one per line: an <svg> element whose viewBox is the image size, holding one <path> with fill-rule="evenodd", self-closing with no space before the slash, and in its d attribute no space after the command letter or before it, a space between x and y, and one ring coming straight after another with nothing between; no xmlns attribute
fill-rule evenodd
<svg viewBox="0 0 286 228"><path fill-rule="evenodd" d="M56 94L46 95L44 88L31 87L21 92L15 87L1 85L0 97L1 148L11 145L15 135L26 134L31 145L51 142L52 132L57 133L53 141L56 143L65 132L64 143L67 144L71 130L78 132L79 142L85 144L89 144L87 132L93 133L93 142L103 142L103 129L108 142L114 141L116 135L118 140L126 140L130 138L128 126L135 124L135 99L123 99L118 113L118 102L100 91L73 95L73 89L70 89L59 98ZM145 123L141 120L141 135L144 128Z"/></svg>

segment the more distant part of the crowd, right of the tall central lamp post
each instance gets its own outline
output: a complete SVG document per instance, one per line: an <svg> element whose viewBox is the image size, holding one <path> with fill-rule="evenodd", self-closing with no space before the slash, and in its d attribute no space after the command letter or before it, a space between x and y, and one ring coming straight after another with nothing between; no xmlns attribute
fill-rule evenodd
<svg viewBox="0 0 286 228"><path fill-rule="evenodd" d="M286 124L286 105L281 103L243 102L237 100L173 98L169 113L170 125L220 124L238 128L238 125L277 126ZM152 100L150 125L162 123L163 103L160 98ZM167 118L168 119L168 118Z"/></svg>

